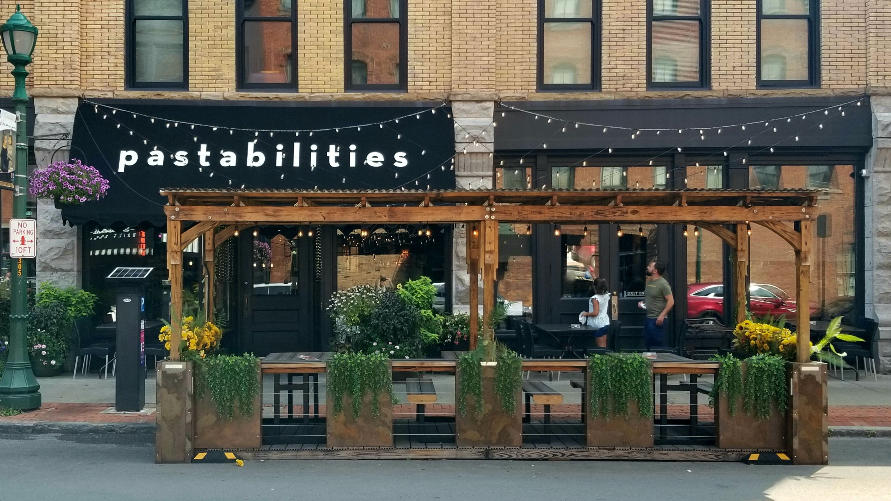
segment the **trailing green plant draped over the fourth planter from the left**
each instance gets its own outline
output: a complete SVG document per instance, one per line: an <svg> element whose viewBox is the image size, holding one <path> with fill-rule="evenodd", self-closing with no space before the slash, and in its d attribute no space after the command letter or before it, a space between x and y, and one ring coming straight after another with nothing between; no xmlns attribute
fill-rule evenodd
<svg viewBox="0 0 891 501"><path fill-rule="evenodd" d="M638 353L588 358L591 372L591 414L609 419L611 415L628 415L628 402L637 403L642 417L653 415L653 392L650 361Z"/></svg>

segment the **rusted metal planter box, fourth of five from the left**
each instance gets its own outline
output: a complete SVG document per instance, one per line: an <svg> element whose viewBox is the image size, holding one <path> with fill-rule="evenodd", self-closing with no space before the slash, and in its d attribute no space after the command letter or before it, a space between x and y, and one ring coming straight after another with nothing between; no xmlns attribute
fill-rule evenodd
<svg viewBox="0 0 891 501"><path fill-rule="evenodd" d="M600 415L591 415L590 372L585 374L584 397L584 431L588 447L653 447L653 418L640 415L637 402L628 402L628 415L610 415L609 419L604 419Z"/></svg>

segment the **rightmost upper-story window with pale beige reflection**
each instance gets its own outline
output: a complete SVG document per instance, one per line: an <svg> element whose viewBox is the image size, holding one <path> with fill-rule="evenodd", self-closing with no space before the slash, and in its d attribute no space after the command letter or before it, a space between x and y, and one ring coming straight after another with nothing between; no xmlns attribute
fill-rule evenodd
<svg viewBox="0 0 891 501"><path fill-rule="evenodd" d="M817 11L816 0L758 0L759 85L817 85Z"/></svg>

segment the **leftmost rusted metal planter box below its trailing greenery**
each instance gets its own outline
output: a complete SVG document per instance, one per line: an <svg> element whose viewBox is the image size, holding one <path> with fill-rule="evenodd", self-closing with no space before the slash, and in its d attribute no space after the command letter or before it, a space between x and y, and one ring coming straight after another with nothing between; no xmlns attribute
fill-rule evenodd
<svg viewBox="0 0 891 501"><path fill-rule="evenodd" d="M260 365L257 362L257 380L260 381ZM194 385L192 385L194 388ZM205 391L204 396L195 397L194 430L192 441L194 448L259 448L262 445L261 421L263 409L261 407L262 390L257 391L254 397L254 412L249 417L241 415L241 408L235 402L235 413L232 419L225 419L219 415L217 404L210 398L210 391Z"/></svg>

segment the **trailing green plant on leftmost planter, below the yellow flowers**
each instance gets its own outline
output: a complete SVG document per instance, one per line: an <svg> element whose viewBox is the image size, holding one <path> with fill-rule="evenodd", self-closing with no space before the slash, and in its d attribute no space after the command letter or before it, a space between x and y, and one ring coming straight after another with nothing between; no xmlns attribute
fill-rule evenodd
<svg viewBox="0 0 891 501"><path fill-rule="evenodd" d="M259 359L250 353L244 355L212 355L195 361L195 394L204 397L210 391L210 399L217 404L217 411L224 419L235 415L235 403L242 416L254 414L254 398L260 390L257 376Z"/></svg>

